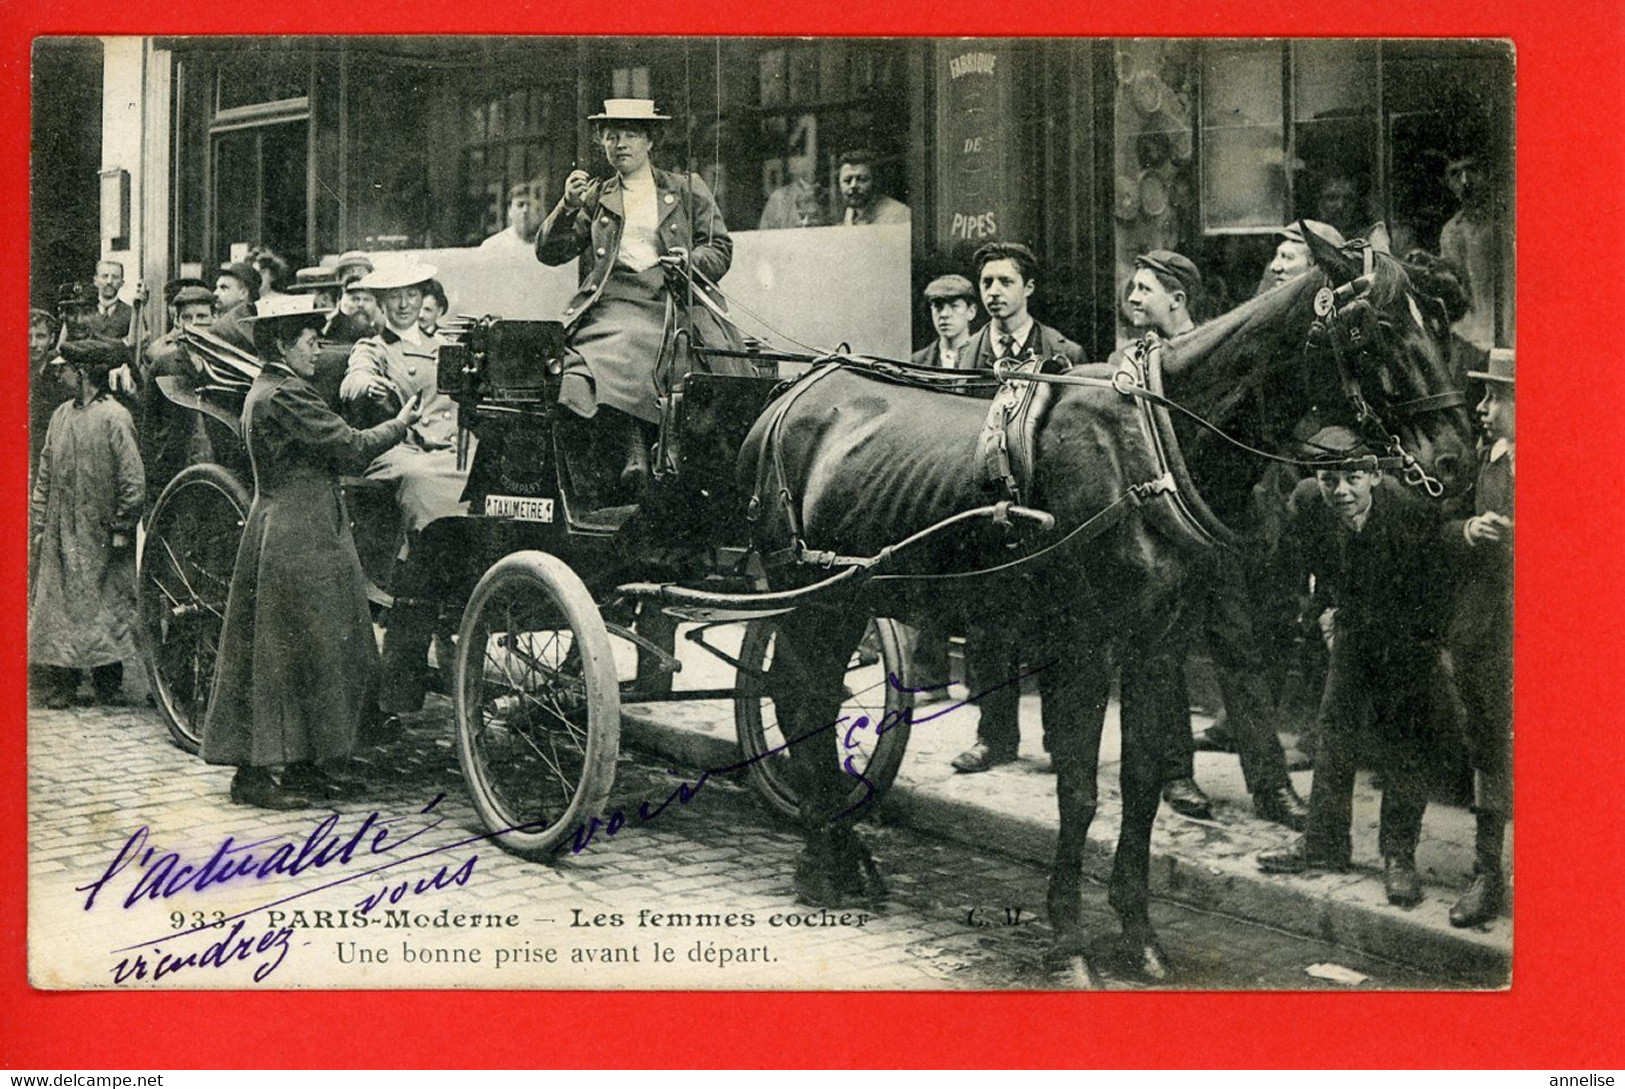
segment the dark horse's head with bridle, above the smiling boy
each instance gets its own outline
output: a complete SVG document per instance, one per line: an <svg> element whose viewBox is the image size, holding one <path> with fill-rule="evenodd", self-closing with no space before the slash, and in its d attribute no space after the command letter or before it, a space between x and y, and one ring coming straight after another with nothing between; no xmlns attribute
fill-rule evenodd
<svg viewBox="0 0 1625 1089"><path fill-rule="evenodd" d="M1388 252L1383 224L1347 245L1300 226L1324 281L1306 346L1329 361L1311 367L1316 413L1404 457L1406 483L1435 497L1459 491L1474 426L1450 362L1450 317L1425 271Z"/></svg>

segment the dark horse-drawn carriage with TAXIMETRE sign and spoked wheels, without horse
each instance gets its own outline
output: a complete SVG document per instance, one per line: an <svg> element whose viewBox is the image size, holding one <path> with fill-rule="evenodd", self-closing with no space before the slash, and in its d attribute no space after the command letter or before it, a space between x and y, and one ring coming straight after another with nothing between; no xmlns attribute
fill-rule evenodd
<svg viewBox="0 0 1625 1089"><path fill-rule="evenodd" d="M765 579L749 548L734 458L762 406L811 359L752 349L728 353L728 374L686 375L670 393L644 502L583 510L552 427L562 327L463 319L450 341L437 382L478 436L465 450L470 514L427 525L400 561L405 536L392 489L344 478L341 492L375 616L387 623L403 598L437 608L434 686L455 707L458 759L486 827L515 853L554 852L604 806L621 705L671 701L731 701L738 772L793 816L786 740L767 692L775 616L791 606L739 600L765 590ZM197 375L159 384L202 414L213 458L182 470L154 504L138 601L154 704L174 743L195 753L250 502L237 414L257 362L206 330L184 343ZM328 377L343 367L341 354L330 349ZM734 601L656 605L648 588L674 579ZM734 671L731 688L673 683L682 668L679 626L686 644ZM855 735L855 793L884 790L897 775L915 699L908 678L904 627L874 619L850 662L845 710L894 725Z"/></svg>

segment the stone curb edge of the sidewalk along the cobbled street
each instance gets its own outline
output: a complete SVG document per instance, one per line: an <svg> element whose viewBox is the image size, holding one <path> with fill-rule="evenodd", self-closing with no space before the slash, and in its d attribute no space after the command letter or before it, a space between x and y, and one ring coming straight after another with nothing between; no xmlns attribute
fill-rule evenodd
<svg viewBox="0 0 1625 1089"><path fill-rule="evenodd" d="M689 767L723 767L738 759L731 738L684 727L663 710L661 705L622 709L622 740ZM1001 809L990 805L993 798L986 795L968 798L964 793L899 780L881 816L916 832L1050 865L1053 819ZM1095 881L1110 874L1118 834L1113 796L1103 790L1102 801L1086 852L1086 871ZM1219 822L1178 821L1199 826L1209 840L1227 835ZM1425 886L1420 905L1399 910L1386 902L1381 876L1370 870L1324 876L1263 874L1250 847L1240 853L1237 847L1194 852L1173 842L1176 837L1167 832L1167 816L1159 818L1152 839L1150 891L1157 897L1358 949L1466 985L1493 988L1511 982L1505 931L1450 925L1448 912L1458 891ZM1180 834L1185 831L1181 827Z"/></svg>

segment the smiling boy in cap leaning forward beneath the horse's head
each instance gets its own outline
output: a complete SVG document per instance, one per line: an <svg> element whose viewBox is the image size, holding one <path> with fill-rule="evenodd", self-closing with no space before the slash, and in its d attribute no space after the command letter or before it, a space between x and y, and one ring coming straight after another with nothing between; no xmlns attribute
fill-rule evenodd
<svg viewBox="0 0 1625 1089"><path fill-rule="evenodd" d="M1388 902L1422 899L1415 848L1427 811L1427 774L1451 715L1443 660L1440 520L1432 507L1383 476L1370 447L1349 427L1310 439L1318 458L1337 458L1298 484L1282 536L1285 569L1331 606L1329 715L1315 753L1308 831L1258 857L1264 873L1347 870L1354 772L1362 723L1370 720L1373 770L1383 779L1378 847Z"/></svg>

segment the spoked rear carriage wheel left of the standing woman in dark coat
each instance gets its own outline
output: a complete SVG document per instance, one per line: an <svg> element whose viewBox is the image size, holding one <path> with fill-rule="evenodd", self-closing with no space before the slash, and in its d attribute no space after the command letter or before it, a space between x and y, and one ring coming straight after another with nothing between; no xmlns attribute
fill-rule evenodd
<svg viewBox="0 0 1625 1089"><path fill-rule="evenodd" d="M146 520L136 575L141 660L169 736L203 743L214 655L226 623L231 569L249 517L249 491L219 465L190 465Z"/></svg>

